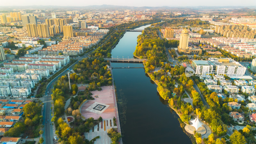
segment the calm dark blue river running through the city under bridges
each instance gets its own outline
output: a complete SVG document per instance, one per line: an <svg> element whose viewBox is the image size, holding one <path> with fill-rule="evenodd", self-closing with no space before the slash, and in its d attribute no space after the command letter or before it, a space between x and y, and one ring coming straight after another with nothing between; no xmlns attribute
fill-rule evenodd
<svg viewBox="0 0 256 144"><path fill-rule="evenodd" d="M144 29L150 25L136 29ZM113 58L132 58L141 32L126 32L112 50ZM158 94L142 63L112 63L117 106L124 144L190 144L180 128L178 115Z"/></svg>

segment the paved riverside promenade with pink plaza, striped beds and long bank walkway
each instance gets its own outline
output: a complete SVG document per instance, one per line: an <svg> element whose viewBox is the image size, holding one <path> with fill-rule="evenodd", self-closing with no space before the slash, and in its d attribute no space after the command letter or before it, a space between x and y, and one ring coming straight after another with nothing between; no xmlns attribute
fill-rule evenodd
<svg viewBox="0 0 256 144"><path fill-rule="evenodd" d="M111 69L110 72L112 74ZM95 141L95 144L110 144L111 139L108 137L107 130L110 128L117 128L117 132L121 133L113 74L112 85L102 86L101 89L102 90L100 91L91 91L94 100L87 100L84 102L80 107L80 112L85 118L92 117L98 119L101 116L103 119L100 124L95 125L94 129L91 129L90 132L84 133L85 138L92 140L93 138L100 136L100 138ZM114 126L114 117L116 117L116 126ZM122 143L121 138L119 144Z"/></svg>

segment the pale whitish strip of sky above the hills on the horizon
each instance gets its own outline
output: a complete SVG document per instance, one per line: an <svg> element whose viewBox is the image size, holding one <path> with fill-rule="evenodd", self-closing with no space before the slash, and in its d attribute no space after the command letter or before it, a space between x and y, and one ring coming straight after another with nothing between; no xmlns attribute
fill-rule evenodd
<svg viewBox="0 0 256 144"><path fill-rule="evenodd" d="M153 0L142 0L142 1L136 1L136 0L131 0L129 1L129 4L123 1L118 1L118 0L112 0L112 1L103 1L99 0L97 2L94 1L87 1L86 3L83 3L82 0L77 0L76 3L69 3L70 1L68 0L63 0L60 1L51 1L51 0L45 0L44 3L37 4L36 1L32 0L25 0L25 1L19 1L19 0L14 0L11 6L32 6L32 5L51 5L51 6L99 6L99 5L114 5L114 6L133 6L133 7L164 7L164 6L169 6L169 7L193 7L193 6L256 6L256 3L254 0L246 0L243 1L243 3L240 3L238 0L227 0L227 1L221 1L221 0L216 0L214 1L214 4L211 2L205 2L204 0L195 0L195 1L188 1L188 0L181 0L181 1L168 1L168 2L163 2L159 3ZM239 3L239 4L238 4ZM198 5L200 4L200 5ZM8 1L3 1L1 2L2 6L10 6L10 3Z"/></svg>

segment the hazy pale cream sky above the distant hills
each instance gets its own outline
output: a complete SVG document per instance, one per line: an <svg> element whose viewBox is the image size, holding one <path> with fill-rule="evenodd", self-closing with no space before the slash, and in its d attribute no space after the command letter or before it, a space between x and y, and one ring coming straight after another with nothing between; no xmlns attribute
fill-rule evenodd
<svg viewBox="0 0 256 144"><path fill-rule="evenodd" d="M256 0L0 0L1 6L87 6L102 4L122 6L255 6Z"/></svg>

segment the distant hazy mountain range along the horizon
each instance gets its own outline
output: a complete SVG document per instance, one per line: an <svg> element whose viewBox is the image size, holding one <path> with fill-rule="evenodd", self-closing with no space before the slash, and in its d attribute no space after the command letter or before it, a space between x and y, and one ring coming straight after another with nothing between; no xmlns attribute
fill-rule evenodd
<svg viewBox="0 0 256 144"><path fill-rule="evenodd" d="M161 7L135 7L135 6L119 6L119 5L89 5L89 6L54 6L54 5L28 5L28 6L0 6L2 11L12 10L12 9L56 9L56 10L223 10L223 9L243 9L248 11L250 9L255 9L256 6L161 6Z"/></svg>

